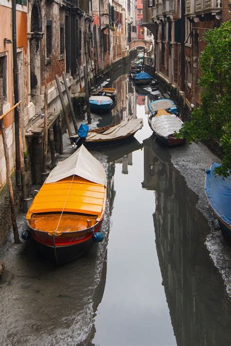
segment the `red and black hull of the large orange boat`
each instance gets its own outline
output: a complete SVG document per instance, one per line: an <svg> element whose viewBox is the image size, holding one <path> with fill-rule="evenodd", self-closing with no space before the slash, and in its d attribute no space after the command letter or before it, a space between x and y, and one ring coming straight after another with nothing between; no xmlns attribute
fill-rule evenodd
<svg viewBox="0 0 231 346"><path fill-rule="evenodd" d="M92 229L61 236L50 236L31 227L29 230L41 254L59 266L77 259L93 246L94 232L100 231L101 223L102 221L98 222Z"/></svg>

